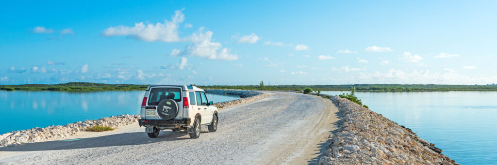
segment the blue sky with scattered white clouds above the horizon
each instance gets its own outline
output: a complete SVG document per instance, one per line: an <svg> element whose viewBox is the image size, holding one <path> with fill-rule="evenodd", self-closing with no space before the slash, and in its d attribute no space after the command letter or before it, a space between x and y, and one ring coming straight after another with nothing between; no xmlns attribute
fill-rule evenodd
<svg viewBox="0 0 497 165"><path fill-rule="evenodd" d="M0 84L497 83L497 1L7 1Z"/></svg>

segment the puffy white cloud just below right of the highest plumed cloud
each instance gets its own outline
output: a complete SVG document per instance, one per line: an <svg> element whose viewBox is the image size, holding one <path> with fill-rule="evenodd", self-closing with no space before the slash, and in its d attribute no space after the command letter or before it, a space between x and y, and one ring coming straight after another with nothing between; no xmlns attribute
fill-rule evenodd
<svg viewBox="0 0 497 165"><path fill-rule="evenodd" d="M223 48L219 42L211 42L212 32L202 32L199 29L198 34L193 34L190 40L195 42L191 46L186 46L181 55L199 56L213 60L237 60L238 56L231 54L230 50Z"/></svg>

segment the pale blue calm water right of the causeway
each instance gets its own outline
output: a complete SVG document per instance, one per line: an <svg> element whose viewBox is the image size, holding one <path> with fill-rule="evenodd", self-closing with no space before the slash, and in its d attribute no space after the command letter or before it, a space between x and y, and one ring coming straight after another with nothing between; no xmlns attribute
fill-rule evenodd
<svg viewBox="0 0 497 165"><path fill-rule="evenodd" d="M356 96L370 110L413 129L456 163L497 164L497 92L357 92Z"/></svg>

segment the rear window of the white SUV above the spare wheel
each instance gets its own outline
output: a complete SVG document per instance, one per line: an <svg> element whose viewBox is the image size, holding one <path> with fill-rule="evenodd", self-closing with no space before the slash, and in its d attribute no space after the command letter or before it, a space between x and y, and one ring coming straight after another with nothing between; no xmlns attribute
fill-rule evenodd
<svg viewBox="0 0 497 165"><path fill-rule="evenodd" d="M150 106L157 106L164 99L181 101L181 89L179 88L152 88L150 90Z"/></svg>

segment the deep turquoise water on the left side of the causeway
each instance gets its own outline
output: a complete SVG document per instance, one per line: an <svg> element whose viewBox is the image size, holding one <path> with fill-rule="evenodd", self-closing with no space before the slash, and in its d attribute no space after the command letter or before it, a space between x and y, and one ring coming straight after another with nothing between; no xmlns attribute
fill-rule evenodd
<svg viewBox="0 0 497 165"><path fill-rule="evenodd" d="M0 134L126 113L139 114L144 94L144 91L0 91ZM240 99L213 94L207 94L207 98L214 103Z"/></svg>

